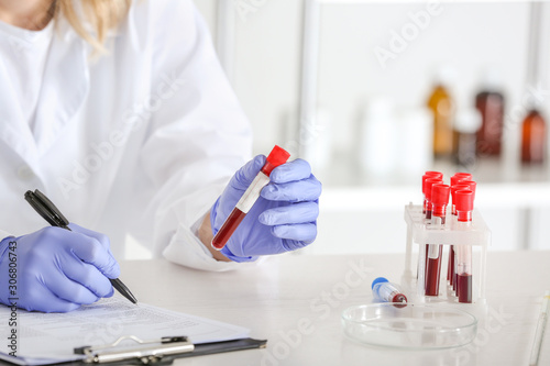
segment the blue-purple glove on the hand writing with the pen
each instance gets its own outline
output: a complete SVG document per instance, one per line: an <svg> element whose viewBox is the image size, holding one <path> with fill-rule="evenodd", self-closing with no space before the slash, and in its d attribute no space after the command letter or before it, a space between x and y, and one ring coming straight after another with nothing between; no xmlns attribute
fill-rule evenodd
<svg viewBox="0 0 550 366"><path fill-rule="evenodd" d="M120 268L109 251L109 239L75 224L69 228L48 226L0 242L0 302L66 312L112 296L109 278L119 277ZM16 284L9 281L10 268L16 269L12 275Z"/></svg>

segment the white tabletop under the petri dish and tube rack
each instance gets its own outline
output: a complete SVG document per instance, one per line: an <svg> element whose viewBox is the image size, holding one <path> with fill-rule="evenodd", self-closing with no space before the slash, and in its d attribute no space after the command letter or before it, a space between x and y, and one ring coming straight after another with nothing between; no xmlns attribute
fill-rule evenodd
<svg viewBox="0 0 550 366"><path fill-rule="evenodd" d="M399 351L346 339L340 315L372 302L375 277L399 281L404 255L283 255L231 273L162 259L121 265L121 278L141 301L242 325L268 340L266 350L179 365L528 365L542 295L550 289L550 251L488 253L490 318L475 341L443 351ZM550 330L539 365L550 365Z"/></svg>

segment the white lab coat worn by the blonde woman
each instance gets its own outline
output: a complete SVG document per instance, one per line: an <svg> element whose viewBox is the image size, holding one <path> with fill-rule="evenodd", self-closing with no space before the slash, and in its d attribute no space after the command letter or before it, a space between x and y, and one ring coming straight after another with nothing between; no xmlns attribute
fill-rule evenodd
<svg viewBox="0 0 550 366"><path fill-rule="evenodd" d="M111 239L131 234L155 256L223 270L197 224L251 155L251 130L189 0L140 0L107 41L108 55L56 24L33 129L2 82L0 234L46 222L25 202L45 192L67 219Z"/></svg>

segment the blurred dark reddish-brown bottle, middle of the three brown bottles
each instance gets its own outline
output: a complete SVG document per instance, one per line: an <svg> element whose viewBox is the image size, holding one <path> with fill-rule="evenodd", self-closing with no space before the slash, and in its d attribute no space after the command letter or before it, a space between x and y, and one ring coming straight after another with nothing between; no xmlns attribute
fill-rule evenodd
<svg viewBox="0 0 550 366"><path fill-rule="evenodd" d="M482 91L475 97L475 108L482 114L477 131L477 155L499 156L503 138L504 97L495 91Z"/></svg>

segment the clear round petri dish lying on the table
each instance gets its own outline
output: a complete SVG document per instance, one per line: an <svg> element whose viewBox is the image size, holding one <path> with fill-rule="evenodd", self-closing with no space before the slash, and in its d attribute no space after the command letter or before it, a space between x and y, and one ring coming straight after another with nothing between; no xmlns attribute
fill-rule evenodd
<svg viewBox="0 0 550 366"><path fill-rule="evenodd" d="M450 348L472 342L474 315L454 308L408 303L371 303L342 312L345 335L363 344L397 348Z"/></svg>

